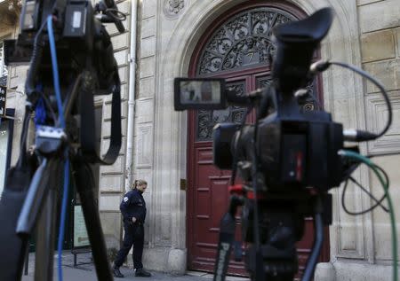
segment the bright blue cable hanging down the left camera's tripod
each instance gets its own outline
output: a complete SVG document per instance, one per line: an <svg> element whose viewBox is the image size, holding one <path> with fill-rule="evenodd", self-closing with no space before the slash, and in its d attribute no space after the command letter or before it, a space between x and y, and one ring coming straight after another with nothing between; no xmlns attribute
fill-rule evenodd
<svg viewBox="0 0 400 281"><path fill-rule="evenodd" d="M54 32L52 30L52 15L47 18L47 31L49 33L49 43L50 43L50 51L52 54L52 77L54 82L54 90L57 98L57 107L59 109L59 123L60 127L65 129L65 120L64 120L64 109L62 107L61 100L61 92L60 92L60 80L59 80L59 66L57 64L57 52L54 40ZM65 221L67 215L67 203L68 203L68 187L69 187L69 160L68 160L68 152L66 151L66 161L64 163L64 188L62 194L62 204L61 204L61 214L60 214L60 229L59 229L59 241L58 241L58 273L59 280L62 281L62 244L64 241L64 230L65 230Z"/></svg>

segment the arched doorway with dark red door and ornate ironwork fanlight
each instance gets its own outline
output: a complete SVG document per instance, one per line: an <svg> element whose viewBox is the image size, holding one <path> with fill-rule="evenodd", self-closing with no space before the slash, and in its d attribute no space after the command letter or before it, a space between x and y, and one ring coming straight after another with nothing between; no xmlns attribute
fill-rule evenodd
<svg viewBox="0 0 400 281"><path fill-rule="evenodd" d="M204 33L193 53L189 77L223 77L229 88L243 95L265 87L270 81L269 53L274 50L271 28L304 17L304 12L283 1L236 6ZM320 83L310 87L321 100ZM243 114L244 109L236 106L188 114L188 269L213 270L220 218L228 208L230 173L212 165L212 127L218 122L239 122ZM300 269L312 246L312 223L308 221L306 227L305 239L299 243ZM244 263L231 261L228 272L244 275Z"/></svg>

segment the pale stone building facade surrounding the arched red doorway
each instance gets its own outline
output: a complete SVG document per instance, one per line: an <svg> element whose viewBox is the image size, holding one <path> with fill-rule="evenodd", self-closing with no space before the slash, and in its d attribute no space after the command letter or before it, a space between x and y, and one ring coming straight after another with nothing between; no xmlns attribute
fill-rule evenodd
<svg viewBox="0 0 400 281"><path fill-rule="evenodd" d="M109 248L118 248L122 238L119 203L132 180L148 181L144 194L148 203L144 264L148 269L183 273L188 269L188 114L173 111L173 78L188 76L197 44L215 20L244 0L142 0L118 2L127 13L126 32L117 34L109 26L122 87L123 147L116 163L100 167L99 210ZM400 5L396 0L288 0L264 1L291 4L310 14L324 6L335 11L335 20L321 46L321 58L363 67L383 82L394 110L388 134L375 142L361 144L364 154L400 151L398 103L400 97ZM132 20L133 19L133 20ZM3 25L3 24L2 24ZM5 30L6 29L6 30ZM5 31L4 31L5 30ZM0 39L15 36L15 28L0 27ZM23 91L26 66L9 67L8 87ZM369 82L347 70L331 67L322 76L324 108L346 128L378 131L386 121L384 100ZM15 88L17 87L17 88ZM9 104L16 117L23 113L24 97L12 92ZM110 98L96 98L101 108L101 150L108 147ZM18 139L20 123L14 126ZM13 145L12 160L18 152ZM390 177L396 205L400 157L374 159ZM377 179L367 169L355 177L376 194ZM349 216L341 208L342 188L332 191L333 224L330 227L330 261L319 264L317 280L389 280L391 237L389 218L376 210L372 214ZM349 208L365 209L371 200L350 186ZM128 260L129 262L130 259Z"/></svg>

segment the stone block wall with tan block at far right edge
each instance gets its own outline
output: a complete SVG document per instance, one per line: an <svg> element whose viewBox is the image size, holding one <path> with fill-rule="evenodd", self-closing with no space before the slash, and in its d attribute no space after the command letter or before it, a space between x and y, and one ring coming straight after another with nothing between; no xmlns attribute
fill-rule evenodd
<svg viewBox="0 0 400 281"><path fill-rule="evenodd" d="M368 152L400 151L400 5L396 0L358 1L363 68L379 79L388 90L393 107L393 124L385 137L368 144ZM364 84L366 125L379 131L387 121L387 107L380 91L370 82ZM400 218L400 176L397 172L400 157L380 157L375 161L388 172L390 194L395 204L397 222ZM378 195L382 189L375 176L369 175L371 190ZM373 263L390 264L392 260L391 231L388 214L381 209L372 215ZM399 248L400 249L400 248ZM388 270L390 271L390 270ZM390 275L388 275L388 278ZM376 279L375 279L376 280ZM383 280L383 279L382 279Z"/></svg>

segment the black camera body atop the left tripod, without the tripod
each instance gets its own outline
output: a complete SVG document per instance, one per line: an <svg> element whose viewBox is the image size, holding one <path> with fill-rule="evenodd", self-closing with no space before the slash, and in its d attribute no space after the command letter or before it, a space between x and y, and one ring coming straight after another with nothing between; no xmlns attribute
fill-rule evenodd
<svg viewBox="0 0 400 281"><path fill-rule="evenodd" d="M110 5L115 7L114 2ZM93 94L109 94L115 84L113 80L117 67L112 43L102 22L110 22L110 18L104 20L104 17L96 17L97 13L106 9L107 5L101 2L93 8L91 1L26 1L21 12L18 40L4 43L6 64L27 63L31 59L35 63L35 60L40 60L40 64L33 65L37 76L41 77L30 78L44 84L51 79L52 60L46 21L52 15L57 60L60 74L63 75L61 87L68 87L76 75L85 69L91 72L96 82ZM120 20L114 21L121 24ZM29 89L27 91L28 95L31 94Z"/></svg>

